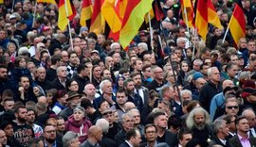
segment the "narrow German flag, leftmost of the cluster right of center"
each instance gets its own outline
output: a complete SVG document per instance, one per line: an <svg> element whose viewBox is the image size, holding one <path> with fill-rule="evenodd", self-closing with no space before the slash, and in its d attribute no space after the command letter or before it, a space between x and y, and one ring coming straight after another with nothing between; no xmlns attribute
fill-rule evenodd
<svg viewBox="0 0 256 147"><path fill-rule="evenodd" d="M193 27L193 24L192 24L192 20L193 20L192 1L191 0L180 0L180 4L181 4L183 21L187 24L186 14L185 14L185 10L186 10L187 18L188 18L188 26L192 28Z"/></svg>

